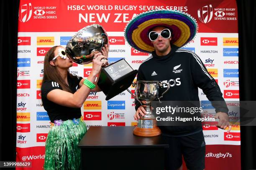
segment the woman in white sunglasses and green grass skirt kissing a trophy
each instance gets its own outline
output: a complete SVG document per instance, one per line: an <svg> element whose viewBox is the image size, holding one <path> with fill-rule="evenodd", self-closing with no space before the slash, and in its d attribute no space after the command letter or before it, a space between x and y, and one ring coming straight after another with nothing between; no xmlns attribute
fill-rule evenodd
<svg viewBox="0 0 256 170"><path fill-rule="evenodd" d="M109 45L102 48L92 60L92 71L87 79L73 76L69 67L73 62L64 47L54 46L44 59L44 77L41 86L42 102L51 120L46 140L44 168L46 170L76 170L80 166L77 144L87 131L81 117L81 107L91 91L100 91L95 79L102 65L107 64ZM92 56L88 56L92 57Z"/></svg>

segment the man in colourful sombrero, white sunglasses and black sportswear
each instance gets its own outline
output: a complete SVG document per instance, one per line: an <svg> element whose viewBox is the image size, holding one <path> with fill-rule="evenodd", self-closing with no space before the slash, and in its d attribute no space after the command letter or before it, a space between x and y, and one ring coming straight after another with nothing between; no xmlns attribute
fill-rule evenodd
<svg viewBox="0 0 256 170"><path fill-rule="evenodd" d="M161 14L161 17L159 17ZM188 19L189 18L189 19ZM177 21L178 20L178 21ZM184 26L185 25L185 26ZM200 87L210 101L224 101L220 88L207 72L200 58L180 47L190 42L197 32L194 19L185 13L159 10L137 15L127 25L125 38L137 50L152 53L138 69L137 80L157 80L171 84L166 101L199 101ZM160 93L166 88L160 89ZM225 103L225 102L224 102ZM231 130L228 108L223 102L212 102L218 127ZM138 120L146 111L136 102ZM160 126L166 149L166 170L182 170L182 156L189 170L205 168L205 140L202 126Z"/></svg>

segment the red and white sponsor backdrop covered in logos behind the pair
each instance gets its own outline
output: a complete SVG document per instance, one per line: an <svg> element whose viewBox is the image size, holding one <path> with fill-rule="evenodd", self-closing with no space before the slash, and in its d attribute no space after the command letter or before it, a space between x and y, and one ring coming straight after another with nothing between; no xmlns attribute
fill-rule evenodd
<svg viewBox="0 0 256 170"><path fill-rule="evenodd" d="M185 48L194 51L218 82L228 106L239 100L238 82L238 22L235 0L187 1L36 1L20 0L17 62L17 161L32 161L33 169L42 169L45 141L50 130L49 117L42 107L41 82L44 75L44 55L54 45L65 45L79 29L94 23L108 32L109 62L121 58L138 69L149 57L125 42L123 30L134 15L147 10L181 10L192 15L199 33ZM88 77L92 65L70 68L74 75ZM136 79L135 79L136 80ZM169 80L171 86L182 84ZM134 88L130 87L134 92ZM212 116L215 110L199 90L204 106L203 115ZM91 92L84 102L82 115L90 126L135 126L133 98L124 91L106 101L102 92ZM230 109L230 120L238 112ZM206 141L206 169L240 167L240 127L231 133L209 124L203 126ZM121 139L120 139L121 140ZM214 164L212 164L214 162ZM26 168L24 168L26 169Z"/></svg>

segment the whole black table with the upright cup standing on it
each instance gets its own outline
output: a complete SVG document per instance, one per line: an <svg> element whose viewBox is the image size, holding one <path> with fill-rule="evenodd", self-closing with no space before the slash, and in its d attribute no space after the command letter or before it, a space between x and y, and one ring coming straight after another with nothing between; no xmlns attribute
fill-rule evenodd
<svg viewBox="0 0 256 170"><path fill-rule="evenodd" d="M132 126L91 126L78 147L83 170L164 170L161 136L133 135Z"/></svg>

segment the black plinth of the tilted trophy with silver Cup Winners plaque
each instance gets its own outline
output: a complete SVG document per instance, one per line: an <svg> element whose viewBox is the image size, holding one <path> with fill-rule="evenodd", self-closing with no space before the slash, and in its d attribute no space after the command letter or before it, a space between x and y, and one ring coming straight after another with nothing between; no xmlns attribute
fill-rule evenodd
<svg viewBox="0 0 256 170"><path fill-rule="evenodd" d="M133 70L124 59L121 59L102 68L97 85L106 95L106 100L109 100L128 89L137 72L138 70Z"/></svg>

